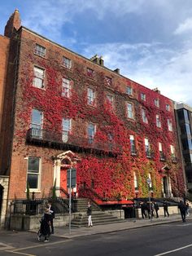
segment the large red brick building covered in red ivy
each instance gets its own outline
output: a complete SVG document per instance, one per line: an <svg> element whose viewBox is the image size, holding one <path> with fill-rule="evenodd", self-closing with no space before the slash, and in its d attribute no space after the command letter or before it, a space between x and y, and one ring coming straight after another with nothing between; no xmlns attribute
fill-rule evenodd
<svg viewBox="0 0 192 256"><path fill-rule="evenodd" d="M67 190L100 197L185 192L171 99L78 55L20 24L19 11L0 38L0 171L8 199Z"/></svg>

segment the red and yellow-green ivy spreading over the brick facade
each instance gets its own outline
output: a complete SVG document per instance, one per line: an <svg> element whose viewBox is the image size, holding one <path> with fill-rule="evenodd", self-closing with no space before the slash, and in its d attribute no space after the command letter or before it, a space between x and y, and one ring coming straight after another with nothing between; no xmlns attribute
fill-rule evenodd
<svg viewBox="0 0 192 256"><path fill-rule="evenodd" d="M34 62L34 57L29 55L28 60ZM94 187L100 196L133 198L135 188L133 183L133 172L137 175L138 196L147 196L148 190L146 179L151 173L153 190L155 196L161 196L161 179L164 176L162 167L168 166L168 174L172 182L172 192L179 196L184 192L184 181L181 164L173 164L170 160L170 148L172 144L177 148L177 133L173 110L168 112L165 104L172 106L171 100L158 95L153 90L133 83L134 94L141 91L146 94L146 101L143 102L139 96L133 99L126 95L116 84L116 91L112 88L104 89L104 74L98 73L96 79L86 77L81 64L74 64L74 70L69 73L65 68L59 68L55 61L39 60L39 65L46 70L45 89L38 89L33 86L33 71L30 64L21 68L20 88L18 88L17 111L15 113L15 150L24 145L26 133L30 126L31 112L37 108L44 113L43 129L55 132L62 130L62 118L68 117L76 121L77 135L86 136L85 124L89 121L97 125L97 132L94 142L102 142L106 155L96 157L95 155L82 154L81 162L76 166L77 188L82 184ZM36 61L37 63L37 61ZM72 80L72 97L70 99L61 95L62 78ZM124 79L129 85L129 79ZM87 104L87 86L92 86L96 93L95 107ZM106 101L108 90L115 97L116 104L111 108ZM160 108L154 106L155 97L159 97ZM135 120L126 117L125 102L132 102L134 105ZM148 124L142 122L141 109L145 108ZM161 118L161 128L156 127L155 115ZM168 131L167 119L172 120L173 131ZM81 126L79 121L81 120ZM74 130L72 130L72 133ZM108 157L107 148L109 134L112 136L113 150L117 157ZM129 135L135 138L137 156L130 153ZM144 148L144 138L147 137L154 152L153 159L147 159ZM167 161L159 161L158 142L163 144L164 154ZM30 152L30 146L26 145L24 152ZM34 152L37 154L37 152ZM177 154L179 152L177 151ZM179 157L179 155L178 155ZM46 159L50 161L50 156Z"/></svg>

